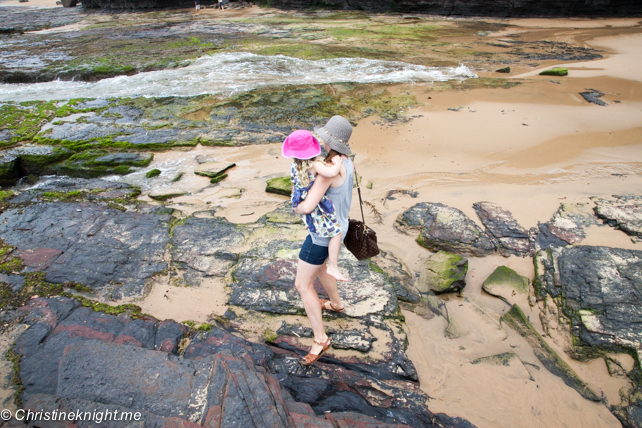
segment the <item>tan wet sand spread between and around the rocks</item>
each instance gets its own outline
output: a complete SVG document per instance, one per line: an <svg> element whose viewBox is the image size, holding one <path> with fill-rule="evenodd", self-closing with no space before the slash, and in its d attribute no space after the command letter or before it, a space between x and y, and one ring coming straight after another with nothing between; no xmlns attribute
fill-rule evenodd
<svg viewBox="0 0 642 428"><path fill-rule="evenodd" d="M458 92L436 91L430 85L396 85L390 90L411 91L420 101L406 112L412 120L381 125L378 118L370 117L354 129L351 147L363 177L362 192L374 209L366 208L367 221L376 229L380 247L400 257L412 273L420 271L431 253L419 247L414 236L397 231L394 224L400 213L418 202L450 205L478 222L472 204L490 201L530 228L548 221L562 202L590 208L592 196L639 194L642 188L642 82L641 74L636 73L641 65L642 36L634 28L637 21L510 22L521 25L523 34L547 32L551 38L567 37L577 28L589 45L608 49L608 57L560 64L569 66L568 77L537 76L543 68L539 66L510 76L522 82L510 89ZM611 33L622 29L627 34L603 38L606 26ZM600 38L591 41L591 31ZM552 65L557 64L543 64ZM602 99L608 105L587 103L579 95L585 88L605 92ZM196 155L237 166L226 180L212 186L207 178L193 175ZM266 180L286 175L288 166L280 145L273 144L199 146L157 154L149 168L166 171L152 184L152 191L192 192L173 199L172 207L184 213L206 210L203 215L247 223L288 200L264 192ZM184 178L169 184L179 170ZM365 188L368 183L372 189ZM393 190L415 191L417 197L395 194L394 199L387 199ZM357 217L358 213L354 203L351 214ZM623 232L605 225L591 226L587 235L586 245L642 249L642 244L632 243ZM431 411L466 418L478 427L620 426L606 406L585 400L541 366L524 339L500 326L499 318L509 306L481 291L483 280L500 265L532 279L532 259L493 256L469 260L463 297L443 297L454 323L449 334L441 317L426 320L404 313L408 352L422 389L431 397ZM221 315L226 309L222 284L200 290L166 287L162 282L154 286L141 302L145 312L161 319L202 322L208 314ZM170 290L168 297L164 297L165 290ZM180 293L184 295L179 297ZM522 300L517 303L527 308L535 327L544 333L540 308L530 308ZM551 332L548 341L598 395L602 393L609 404L619 403L618 391L627 386L626 380L609 376L603 360L580 363L570 359L564 353L568 335L563 329ZM519 359L508 366L470 363L509 351ZM628 356L617 358L631 367L634 364Z"/></svg>

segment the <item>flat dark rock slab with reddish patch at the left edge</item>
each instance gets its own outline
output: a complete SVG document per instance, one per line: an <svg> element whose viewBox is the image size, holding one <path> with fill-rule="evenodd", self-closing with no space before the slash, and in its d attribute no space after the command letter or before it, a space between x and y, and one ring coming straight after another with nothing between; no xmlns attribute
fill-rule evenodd
<svg viewBox="0 0 642 428"><path fill-rule="evenodd" d="M167 269L169 215L121 212L82 203L42 203L0 215L0 238L46 272L113 298L141 296ZM34 255L35 254L35 255Z"/></svg>

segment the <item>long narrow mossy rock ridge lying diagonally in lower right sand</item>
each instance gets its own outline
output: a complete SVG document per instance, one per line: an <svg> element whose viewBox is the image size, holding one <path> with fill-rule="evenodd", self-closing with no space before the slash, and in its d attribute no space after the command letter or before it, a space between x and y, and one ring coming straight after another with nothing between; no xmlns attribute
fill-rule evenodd
<svg viewBox="0 0 642 428"><path fill-rule="evenodd" d="M591 388L580 379L573 369L569 367L569 365L557 355L553 348L546 343L544 338L540 336L519 306L513 305L502 320L526 339L533 348L535 356L548 371L561 378L566 385L579 392L580 395L587 400L600 401L600 398Z"/></svg>

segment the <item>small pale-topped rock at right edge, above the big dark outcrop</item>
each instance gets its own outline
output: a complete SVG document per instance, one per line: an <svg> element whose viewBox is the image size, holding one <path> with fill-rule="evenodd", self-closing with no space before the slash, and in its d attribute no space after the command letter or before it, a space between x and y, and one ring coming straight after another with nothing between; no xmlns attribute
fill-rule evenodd
<svg viewBox="0 0 642 428"><path fill-rule="evenodd" d="M642 197L617 196L615 200L593 199L595 214L606 224L642 241Z"/></svg>

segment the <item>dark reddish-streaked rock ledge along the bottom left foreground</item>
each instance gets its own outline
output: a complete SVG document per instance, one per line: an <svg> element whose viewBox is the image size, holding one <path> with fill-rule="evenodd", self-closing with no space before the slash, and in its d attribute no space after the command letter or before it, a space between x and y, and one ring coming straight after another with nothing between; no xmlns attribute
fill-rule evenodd
<svg viewBox="0 0 642 428"><path fill-rule="evenodd" d="M108 315L64 297L31 300L14 316L30 325L14 346L25 409L138 412L141 426L157 427L472 427L432 414L407 382L332 361L304 367L296 352L214 325L194 334L173 321ZM189 338L183 352L178 343Z"/></svg>

